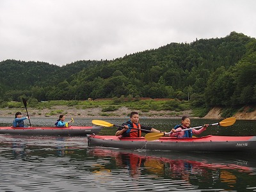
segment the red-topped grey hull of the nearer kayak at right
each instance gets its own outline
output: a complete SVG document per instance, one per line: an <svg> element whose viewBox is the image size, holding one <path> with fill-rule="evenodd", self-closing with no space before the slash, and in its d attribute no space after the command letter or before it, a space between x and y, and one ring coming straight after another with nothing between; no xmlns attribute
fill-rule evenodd
<svg viewBox="0 0 256 192"><path fill-rule="evenodd" d="M256 136L204 136L200 138L163 137L147 141L145 138L119 138L90 135L89 146L125 149L172 150L188 152L248 152L256 151Z"/></svg>

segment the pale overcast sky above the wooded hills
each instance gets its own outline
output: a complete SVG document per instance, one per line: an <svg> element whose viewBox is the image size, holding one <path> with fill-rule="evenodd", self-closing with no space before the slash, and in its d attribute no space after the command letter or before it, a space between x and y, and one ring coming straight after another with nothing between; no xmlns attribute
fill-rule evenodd
<svg viewBox="0 0 256 192"><path fill-rule="evenodd" d="M256 37L255 0L0 0L0 61L112 60L172 42Z"/></svg>

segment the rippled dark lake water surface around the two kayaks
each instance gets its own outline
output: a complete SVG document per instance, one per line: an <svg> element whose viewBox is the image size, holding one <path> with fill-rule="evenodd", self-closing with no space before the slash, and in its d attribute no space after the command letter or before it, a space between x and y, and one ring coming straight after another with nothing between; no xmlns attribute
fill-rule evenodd
<svg viewBox="0 0 256 192"><path fill-rule="evenodd" d="M0 118L7 125L13 118ZM52 125L55 118L31 118ZM100 118L122 124L124 118ZM77 118L74 125L92 125ZM179 119L141 118L170 131ZM192 127L220 120L191 120ZM212 126L202 135L256 135L255 121ZM106 127L99 134L114 134ZM0 134L0 191L256 191L256 154L178 153L88 147L86 137Z"/></svg>

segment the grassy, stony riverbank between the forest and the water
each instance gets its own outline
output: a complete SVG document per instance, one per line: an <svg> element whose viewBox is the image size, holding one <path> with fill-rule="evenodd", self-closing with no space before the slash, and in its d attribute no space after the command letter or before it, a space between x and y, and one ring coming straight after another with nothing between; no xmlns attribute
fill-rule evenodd
<svg viewBox="0 0 256 192"><path fill-rule="evenodd" d="M32 116L58 116L68 114L72 116L129 116L131 111L140 111L141 116L177 117L189 115L191 117L204 117L210 108L195 108L187 100L177 99L150 99L150 98L113 98L96 100L49 100L38 102L28 99L28 109ZM23 102L1 102L1 115L12 116L15 111L24 111ZM223 108L220 116L234 116L237 112L250 113L255 107ZM3 110L6 112L4 113ZM211 116L210 116L211 117ZM211 118L214 118L212 116Z"/></svg>

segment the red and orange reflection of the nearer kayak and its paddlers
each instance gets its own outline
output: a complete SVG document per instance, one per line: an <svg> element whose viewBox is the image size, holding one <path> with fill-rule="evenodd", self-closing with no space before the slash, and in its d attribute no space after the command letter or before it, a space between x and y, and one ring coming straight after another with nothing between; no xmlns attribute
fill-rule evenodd
<svg viewBox="0 0 256 192"><path fill-rule="evenodd" d="M214 188L216 182L235 184L237 175L255 173L248 166L240 166L236 161L232 163L230 156L225 160L225 158L216 157L215 154L214 156L204 154L189 156L168 152L141 154L141 152L124 152L100 147L89 148L88 152L90 156L99 157L101 160L102 157L104 158L104 164L97 165L94 169L95 173L104 173L106 170L116 173L122 172L120 168L125 168L129 170L129 175L133 179L151 175L150 177L154 179L179 180L183 186L184 184L198 186L198 180L205 179L209 180L209 185Z"/></svg>

